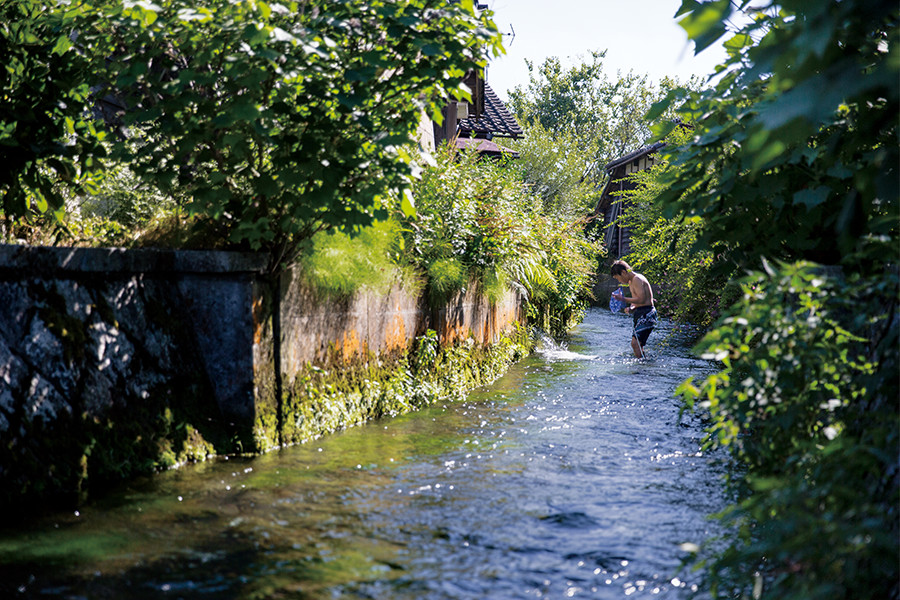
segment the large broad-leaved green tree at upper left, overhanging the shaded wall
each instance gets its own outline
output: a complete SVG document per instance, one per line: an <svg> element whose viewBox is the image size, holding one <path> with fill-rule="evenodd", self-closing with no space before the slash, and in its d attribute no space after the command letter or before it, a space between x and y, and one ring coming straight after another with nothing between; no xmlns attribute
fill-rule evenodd
<svg viewBox="0 0 900 600"><path fill-rule="evenodd" d="M117 160L232 241L276 258L316 230L385 216L387 198L409 185L410 158L398 148L423 111L436 115L442 98L464 95L465 72L500 48L489 13L476 15L471 0L45 4L3 4L30 11L21 28L32 33L16 35L42 52L23 52L4 94L39 79L59 86L40 86L44 105L69 112L39 105L38 140L67 149L5 174L6 216L27 214L35 190L47 195L58 174L43 165L66 159L62 167L78 170L100 155L99 131L68 149L73 135L99 128L87 115L100 111L117 126L106 136ZM19 46L7 48L17 56ZM18 113L0 126L10 152L33 143Z"/></svg>

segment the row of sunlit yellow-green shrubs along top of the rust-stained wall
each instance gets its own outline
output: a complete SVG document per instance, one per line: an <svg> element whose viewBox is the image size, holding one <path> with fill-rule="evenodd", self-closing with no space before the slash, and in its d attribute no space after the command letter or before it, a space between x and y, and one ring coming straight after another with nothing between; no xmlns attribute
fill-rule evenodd
<svg viewBox="0 0 900 600"><path fill-rule="evenodd" d="M530 323L548 333L578 323L603 255L582 223L545 208L505 160L449 148L427 160L415 214L395 211L355 235L317 234L299 259L304 279L330 298L403 281L434 306L475 282L491 301L522 293Z"/></svg>

